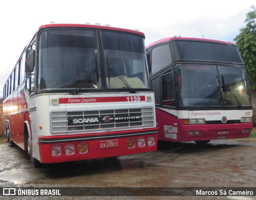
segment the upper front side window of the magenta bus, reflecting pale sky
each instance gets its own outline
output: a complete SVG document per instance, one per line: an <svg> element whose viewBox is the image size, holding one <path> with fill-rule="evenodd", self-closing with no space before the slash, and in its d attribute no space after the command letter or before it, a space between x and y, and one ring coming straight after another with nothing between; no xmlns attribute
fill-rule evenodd
<svg viewBox="0 0 256 200"><path fill-rule="evenodd" d="M172 64L172 56L169 44L157 46L152 49L151 74L159 72L163 68Z"/></svg>

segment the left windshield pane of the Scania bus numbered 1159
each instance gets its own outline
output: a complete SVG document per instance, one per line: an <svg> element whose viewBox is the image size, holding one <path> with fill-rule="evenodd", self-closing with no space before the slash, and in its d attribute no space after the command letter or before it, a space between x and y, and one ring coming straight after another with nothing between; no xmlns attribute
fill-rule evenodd
<svg viewBox="0 0 256 200"><path fill-rule="evenodd" d="M45 30L39 48L39 90L76 88L95 69L82 88L100 88L96 31Z"/></svg>

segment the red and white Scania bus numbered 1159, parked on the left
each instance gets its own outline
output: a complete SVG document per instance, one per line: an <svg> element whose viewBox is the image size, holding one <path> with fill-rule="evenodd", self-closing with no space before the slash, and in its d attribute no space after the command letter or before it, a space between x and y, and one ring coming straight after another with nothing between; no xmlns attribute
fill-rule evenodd
<svg viewBox="0 0 256 200"><path fill-rule="evenodd" d="M35 166L156 150L144 38L110 26L40 26L4 85L11 145Z"/></svg>

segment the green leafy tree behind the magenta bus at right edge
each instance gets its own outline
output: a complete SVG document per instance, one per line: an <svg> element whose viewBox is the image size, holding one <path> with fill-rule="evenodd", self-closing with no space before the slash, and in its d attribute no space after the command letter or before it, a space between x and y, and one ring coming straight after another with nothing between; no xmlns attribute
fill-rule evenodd
<svg viewBox="0 0 256 200"><path fill-rule="evenodd" d="M244 22L246 26L240 28L240 33L234 41L238 46L242 59L246 66L252 90L256 90L256 8L250 6L253 11L246 14Z"/></svg>

